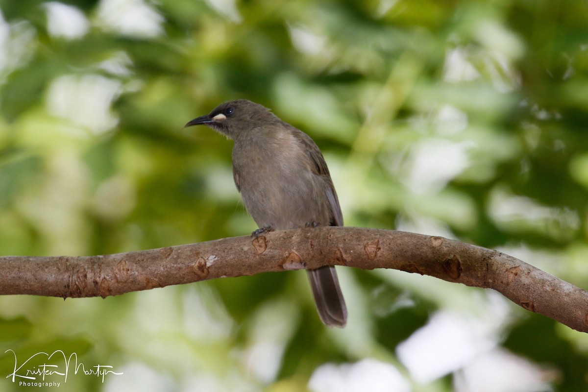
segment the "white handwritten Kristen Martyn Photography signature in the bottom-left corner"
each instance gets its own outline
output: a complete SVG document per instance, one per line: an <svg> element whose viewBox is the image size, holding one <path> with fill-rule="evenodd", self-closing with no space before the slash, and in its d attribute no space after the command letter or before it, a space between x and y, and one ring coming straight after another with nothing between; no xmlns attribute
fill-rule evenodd
<svg viewBox="0 0 588 392"><path fill-rule="evenodd" d="M14 371L6 378L11 378L13 383L23 387L59 387L61 383L68 381L68 376L78 374L101 378L103 383L106 377L122 374L113 370L110 365L86 366L78 362L78 354L72 353L68 357L61 350L53 351L51 354L36 353L24 361L16 359L14 350L8 349L4 353L12 353L14 356Z"/></svg>

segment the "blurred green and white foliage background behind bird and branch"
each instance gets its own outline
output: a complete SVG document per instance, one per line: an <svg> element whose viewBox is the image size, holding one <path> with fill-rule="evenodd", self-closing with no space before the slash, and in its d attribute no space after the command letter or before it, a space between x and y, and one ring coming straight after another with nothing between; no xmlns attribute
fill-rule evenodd
<svg viewBox="0 0 588 392"><path fill-rule="evenodd" d="M0 12L0 254L250 233L232 142L182 129L247 98L315 139L346 226L498 249L588 287L585 1L0 0ZM496 292L339 274L343 330L322 326L303 272L2 297L0 374L14 367L5 350L63 350L124 374L70 374L60 391L588 390L586 334ZM39 388L0 377L0 390Z"/></svg>

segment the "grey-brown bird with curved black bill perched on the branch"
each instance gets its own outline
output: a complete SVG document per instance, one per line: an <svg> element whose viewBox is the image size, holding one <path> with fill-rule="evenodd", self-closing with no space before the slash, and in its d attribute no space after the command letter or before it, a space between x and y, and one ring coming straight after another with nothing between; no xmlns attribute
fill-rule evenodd
<svg viewBox="0 0 588 392"><path fill-rule="evenodd" d="M246 99L221 103L184 127L206 125L232 139L233 179L258 237L273 230L343 226L339 199L318 146L306 133ZM335 266L308 269L320 320L345 327Z"/></svg>

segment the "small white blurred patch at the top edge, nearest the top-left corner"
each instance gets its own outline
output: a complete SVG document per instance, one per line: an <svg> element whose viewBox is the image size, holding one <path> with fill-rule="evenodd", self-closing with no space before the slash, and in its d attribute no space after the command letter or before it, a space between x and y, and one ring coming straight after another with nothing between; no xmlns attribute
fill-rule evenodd
<svg viewBox="0 0 588 392"><path fill-rule="evenodd" d="M45 3L49 35L68 39L80 38L88 32L86 16L75 6L51 1Z"/></svg>

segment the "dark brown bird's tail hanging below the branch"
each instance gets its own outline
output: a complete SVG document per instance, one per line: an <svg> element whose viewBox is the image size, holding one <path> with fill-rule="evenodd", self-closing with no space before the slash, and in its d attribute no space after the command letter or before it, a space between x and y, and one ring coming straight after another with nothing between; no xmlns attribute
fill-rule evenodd
<svg viewBox="0 0 588 392"><path fill-rule="evenodd" d="M329 327L345 327L347 307L334 266L307 270L320 320Z"/></svg>

